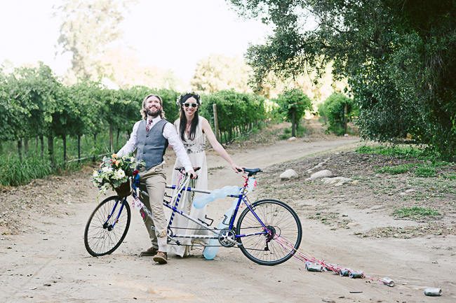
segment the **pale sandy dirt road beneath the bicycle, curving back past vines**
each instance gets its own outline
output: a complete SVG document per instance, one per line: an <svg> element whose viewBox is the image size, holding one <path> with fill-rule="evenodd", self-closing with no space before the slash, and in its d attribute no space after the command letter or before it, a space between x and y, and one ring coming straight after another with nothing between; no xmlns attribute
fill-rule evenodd
<svg viewBox="0 0 456 303"><path fill-rule="evenodd" d="M354 138L298 139L229 152L238 164L262 168L356 143L358 139ZM166 160L169 171L173 157ZM208 167L209 188L243 180L210 153ZM85 178L88 182L90 175ZM295 259L264 267L248 260L237 248L220 248L211 261L196 251L188 258L171 257L168 265L155 265L151 258L138 257L147 248L148 237L135 209L120 248L112 255L93 258L84 248L83 229L96 206L96 193L95 189L81 192L81 197L87 197L83 203L51 203L50 207L58 208L62 216L34 218L31 214L36 220L32 230L1 236L0 302L456 302L455 280L451 278L454 254L441 250L436 255L432 249L448 246L454 237L429 239L424 246L423 241L413 240L361 240L349 230L329 230L303 217L304 251L366 274L390 276L396 280L396 287L329 272L306 272L304 264ZM217 200L209 206L208 216L217 222L230 204ZM431 261L438 262L438 267L424 266ZM439 298L424 297L422 289L426 286L452 291ZM358 293L350 293L353 291Z"/></svg>

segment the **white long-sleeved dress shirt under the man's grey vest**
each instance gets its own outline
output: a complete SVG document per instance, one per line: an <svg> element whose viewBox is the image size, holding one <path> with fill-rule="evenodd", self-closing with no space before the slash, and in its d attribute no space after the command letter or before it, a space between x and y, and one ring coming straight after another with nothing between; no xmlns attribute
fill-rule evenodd
<svg viewBox="0 0 456 303"><path fill-rule="evenodd" d="M154 119L152 119L152 123L149 127L149 129L152 129L154 125L156 125L157 122L161 120L161 117L158 116ZM130 153L133 153L138 146L138 127L140 126L140 122L138 121L133 125L133 132L131 132L130 139L125 143L123 148L119 150L117 155L123 156L123 155L128 155ZM149 117L147 118L146 123L149 122ZM182 144L182 141L180 141L179 135L177 134L177 131L170 122L167 122L165 127L163 128L163 136L165 139L168 139L168 143L170 144L171 147L173 147L174 152L177 155L177 159L179 159L180 163L185 167L186 171L192 170L192 162L189 160L189 156L187 155L187 152L185 151L184 145ZM165 161L163 160L162 164L164 164Z"/></svg>

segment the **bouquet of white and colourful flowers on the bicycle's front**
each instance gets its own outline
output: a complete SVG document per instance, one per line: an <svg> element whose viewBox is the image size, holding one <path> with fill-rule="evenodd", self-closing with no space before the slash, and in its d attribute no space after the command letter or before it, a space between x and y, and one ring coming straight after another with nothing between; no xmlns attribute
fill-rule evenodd
<svg viewBox="0 0 456 303"><path fill-rule="evenodd" d="M103 157L100 169L93 171L93 185L100 188L101 193L105 193L108 188L117 192L119 197L130 195L130 182L128 178L138 174L138 167L143 165L142 162L136 161L133 156L117 157L113 154L111 157Z"/></svg>

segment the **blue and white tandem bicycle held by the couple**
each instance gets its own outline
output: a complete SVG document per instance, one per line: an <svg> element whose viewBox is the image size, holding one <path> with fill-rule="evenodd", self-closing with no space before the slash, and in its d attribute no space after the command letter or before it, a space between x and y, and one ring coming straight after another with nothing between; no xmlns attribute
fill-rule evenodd
<svg viewBox="0 0 456 303"><path fill-rule="evenodd" d="M189 187L190 176L184 173L183 168L177 168L177 170L181 172L182 178L177 185L166 185L166 188L174 190L174 194L172 197L166 196L170 198L169 200L163 199L163 206L171 211L167 229L168 244L182 245L182 238L210 239L209 246L237 247L248 259L260 265L278 265L296 253L302 239L302 226L295 211L288 204L276 199L261 199L253 203L248 200L248 192L256 186L254 176L261 169L243 169L245 181L242 187L238 187L234 192ZM139 175L131 178L133 190L128 192L126 197L119 197L119 195L107 197L91 213L84 231L84 244L90 255L101 256L113 253L125 239L131 218L127 197L133 198L132 206L140 209L142 216L152 217L149 210L138 199L138 193L147 196L147 190L140 184L138 178ZM184 200L182 197L189 192L201 192L213 197L214 195L233 197L237 200L224 214L222 222L217 227L211 227L212 222L206 223L192 218L178 208L180 201ZM211 199L204 197L199 199L199 197L194 199L194 206L197 202L201 206L211 201ZM241 206L246 208L238 218ZM177 234L172 227L175 216L184 216L202 229L208 230L208 234Z"/></svg>

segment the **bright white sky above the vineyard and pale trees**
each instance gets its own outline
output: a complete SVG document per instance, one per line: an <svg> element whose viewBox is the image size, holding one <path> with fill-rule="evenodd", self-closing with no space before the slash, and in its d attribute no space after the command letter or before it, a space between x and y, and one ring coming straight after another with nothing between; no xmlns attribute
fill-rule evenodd
<svg viewBox="0 0 456 303"><path fill-rule="evenodd" d="M51 0L0 0L0 63L15 66L43 61L58 75L69 56L55 57L58 18ZM150 66L171 69L188 82L196 62L210 54L243 55L248 43L261 43L268 28L241 20L224 0L140 0L121 24L125 45Z"/></svg>

